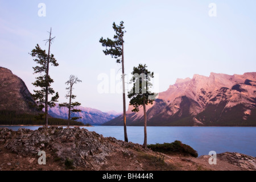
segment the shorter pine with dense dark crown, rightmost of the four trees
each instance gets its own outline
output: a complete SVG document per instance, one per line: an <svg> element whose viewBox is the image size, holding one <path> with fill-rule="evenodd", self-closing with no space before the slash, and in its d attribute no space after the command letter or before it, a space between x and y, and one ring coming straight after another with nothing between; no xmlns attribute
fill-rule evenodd
<svg viewBox="0 0 256 182"><path fill-rule="evenodd" d="M150 96L154 96L155 93L150 92L152 86L150 80L154 77L154 72L147 70L146 64L139 64L138 67L133 68L133 78L131 82L134 84L133 88L128 94L128 97L131 98L130 105L134 106L133 112L139 111L139 106L143 106L144 111L144 143L143 147L147 147L147 113L146 105L153 104L154 100L150 99Z"/></svg>

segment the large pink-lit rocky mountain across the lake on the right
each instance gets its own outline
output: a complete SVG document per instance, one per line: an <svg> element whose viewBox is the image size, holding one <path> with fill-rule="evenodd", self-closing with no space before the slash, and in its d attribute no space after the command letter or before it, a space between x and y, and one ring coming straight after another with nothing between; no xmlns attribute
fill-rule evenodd
<svg viewBox="0 0 256 182"><path fill-rule="evenodd" d="M154 104L147 105L148 126L256 126L256 72L210 73L177 79ZM143 126L143 109L129 106L127 125ZM104 125L123 125L123 116Z"/></svg>

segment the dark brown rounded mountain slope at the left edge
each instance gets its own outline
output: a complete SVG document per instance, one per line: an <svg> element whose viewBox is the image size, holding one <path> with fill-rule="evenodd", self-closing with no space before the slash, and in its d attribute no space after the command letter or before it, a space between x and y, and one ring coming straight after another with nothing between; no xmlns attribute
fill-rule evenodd
<svg viewBox="0 0 256 182"><path fill-rule="evenodd" d="M0 67L0 110L36 113L26 84L9 69Z"/></svg>

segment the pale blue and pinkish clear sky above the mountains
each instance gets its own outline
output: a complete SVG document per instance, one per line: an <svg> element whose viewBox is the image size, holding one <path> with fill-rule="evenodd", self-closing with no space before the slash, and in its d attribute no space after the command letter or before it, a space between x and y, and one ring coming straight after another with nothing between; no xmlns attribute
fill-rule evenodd
<svg viewBox="0 0 256 182"><path fill-rule="evenodd" d="M101 37L113 39L113 22L123 21L126 30L125 73L146 64L164 92L177 78L195 74L255 72L255 7L254 0L0 0L0 66L34 93L36 64L28 53L36 44L48 51L43 40L52 28L51 53L59 67L50 67L49 75L59 102L67 102L65 82L75 75L82 81L74 90L82 106L121 112L122 93L111 90L122 84L121 64L105 56L99 43ZM102 93L102 81L108 80Z"/></svg>

